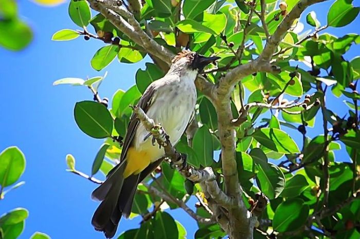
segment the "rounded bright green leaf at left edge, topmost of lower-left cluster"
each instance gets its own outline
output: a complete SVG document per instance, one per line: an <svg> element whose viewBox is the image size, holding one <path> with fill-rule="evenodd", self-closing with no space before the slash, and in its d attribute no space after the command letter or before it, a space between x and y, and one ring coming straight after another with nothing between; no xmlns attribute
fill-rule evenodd
<svg viewBox="0 0 360 239"><path fill-rule="evenodd" d="M25 156L17 147L8 147L0 153L0 187L14 184L25 171Z"/></svg>

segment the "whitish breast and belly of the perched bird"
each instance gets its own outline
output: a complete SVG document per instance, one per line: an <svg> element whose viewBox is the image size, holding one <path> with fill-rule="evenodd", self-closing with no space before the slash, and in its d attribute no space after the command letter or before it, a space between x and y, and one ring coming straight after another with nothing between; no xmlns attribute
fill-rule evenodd
<svg viewBox="0 0 360 239"><path fill-rule="evenodd" d="M152 118L156 124L164 127L170 136L170 142L175 145L183 135L189 123L190 117L196 104L196 87L194 78L196 73L192 71L186 75L177 75L177 79L171 81L165 80L164 85L158 88L156 98L149 108L147 115ZM160 79L159 81L163 81ZM150 150L153 153L152 162L164 156L164 149L159 149L157 143L152 145L149 134L140 124L136 136L135 147L141 150Z"/></svg>

